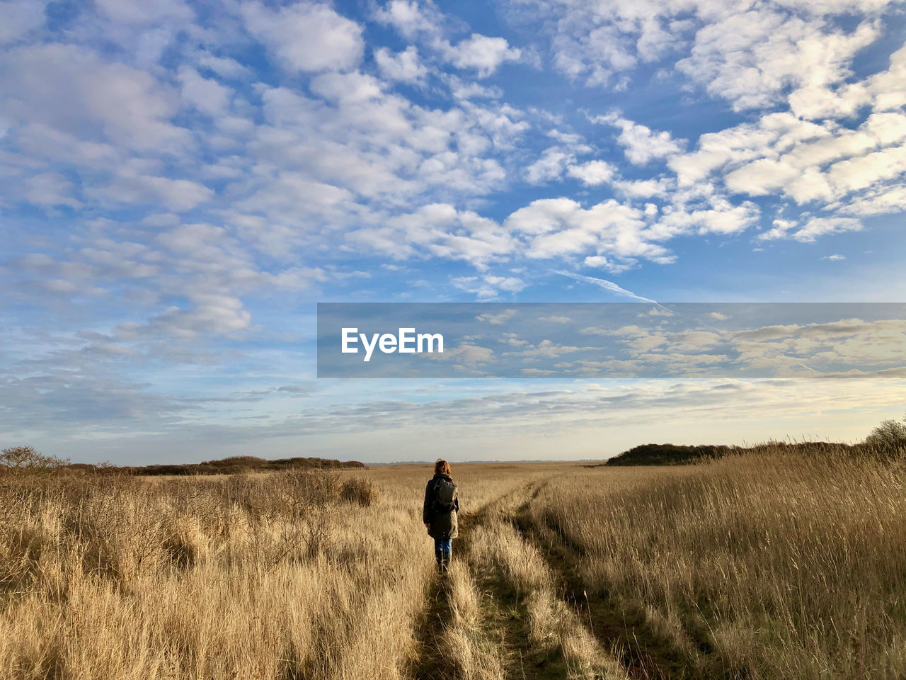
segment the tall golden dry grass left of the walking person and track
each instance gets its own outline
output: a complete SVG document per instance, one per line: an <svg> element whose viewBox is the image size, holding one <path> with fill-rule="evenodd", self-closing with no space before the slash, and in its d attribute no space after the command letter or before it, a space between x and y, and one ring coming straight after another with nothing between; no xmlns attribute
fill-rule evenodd
<svg viewBox="0 0 906 680"><path fill-rule="evenodd" d="M402 676L431 564L362 484L6 480L0 677Z"/></svg>

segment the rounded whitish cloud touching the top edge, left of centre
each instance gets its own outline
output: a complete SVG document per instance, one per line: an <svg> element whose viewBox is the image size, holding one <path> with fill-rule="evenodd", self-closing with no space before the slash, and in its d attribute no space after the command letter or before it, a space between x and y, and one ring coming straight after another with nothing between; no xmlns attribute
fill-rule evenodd
<svg viewBox="0 0 906 680"><path fill-rule="evenodd" d="M299 2L272 12L259 2L241 6L251 34L292 72L354 68L364 52L361 25L328 5Z"/></svg>

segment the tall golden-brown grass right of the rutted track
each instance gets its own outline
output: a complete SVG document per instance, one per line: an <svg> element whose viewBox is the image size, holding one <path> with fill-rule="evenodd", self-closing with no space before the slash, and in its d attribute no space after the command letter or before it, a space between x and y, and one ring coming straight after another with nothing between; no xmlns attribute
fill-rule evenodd
<svg viewBox="0 0 906 680"><path fill-rule="evenodd" d="M532 520L581 555L590 591L641 613L697 673L906 677L901 463L767 449L631 489L615 472L553 481Z"/></svg>

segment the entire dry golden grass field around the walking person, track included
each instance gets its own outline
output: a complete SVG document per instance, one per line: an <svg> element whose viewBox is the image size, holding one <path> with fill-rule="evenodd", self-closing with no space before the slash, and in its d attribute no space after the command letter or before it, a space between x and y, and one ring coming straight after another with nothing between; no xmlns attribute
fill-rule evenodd
<svg viewBox="0 0 906 680"><path fill-rule="evenodd" d="M898 678L900 463L0 478L0 677Z"/></svg>

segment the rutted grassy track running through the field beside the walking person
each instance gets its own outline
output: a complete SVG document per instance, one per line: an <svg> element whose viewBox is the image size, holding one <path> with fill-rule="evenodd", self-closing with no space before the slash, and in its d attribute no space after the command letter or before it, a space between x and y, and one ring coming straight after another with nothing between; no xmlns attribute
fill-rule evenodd
<svg viewBox="0 0 906 680"><path fill-rule="evenodd" d="M554 578L514 529L535 497L528 482L464 513L454 568L435 577L420 621L419 680L622 680L622 667L554 595Z"/></svg>

